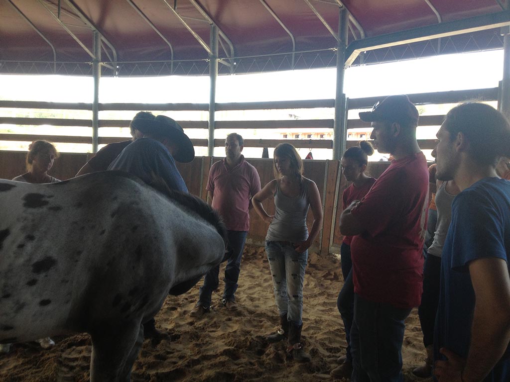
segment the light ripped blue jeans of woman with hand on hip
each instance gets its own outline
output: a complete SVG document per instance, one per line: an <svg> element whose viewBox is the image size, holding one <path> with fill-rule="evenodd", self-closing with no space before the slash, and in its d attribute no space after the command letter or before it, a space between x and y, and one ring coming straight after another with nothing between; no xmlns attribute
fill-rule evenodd
<svg viewBox="0 0 510 382"><path fill-rule="evenodd" d="M298 253L290 242L266 241L278 315L300 326L303 316L303 282L308 250Z"/></svg>

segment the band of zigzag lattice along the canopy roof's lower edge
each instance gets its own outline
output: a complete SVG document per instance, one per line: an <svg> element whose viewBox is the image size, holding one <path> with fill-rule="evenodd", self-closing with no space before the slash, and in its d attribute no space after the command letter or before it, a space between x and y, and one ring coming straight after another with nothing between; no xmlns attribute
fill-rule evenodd
<svg viewBox="0 0 510 382"><path fill-rule="evenodd" d="M475 52L503 48L500 30L444 37L367 51L353 63L356 65L379 64L411 60L458 52ZM294 61L293 61L294 59ZM296 69L336 67L336 48L305 52L288 52L270 56L228 58L230 65L220 65L219 75L247 74ZM111 68L114 69L111 69ZM15 62L0 61L0 71L13 74L64 74L92 75L92 62ZM166 75L209 75L209 60L157 61L157 62L103 62L101 76L139 77Z"/></svg>

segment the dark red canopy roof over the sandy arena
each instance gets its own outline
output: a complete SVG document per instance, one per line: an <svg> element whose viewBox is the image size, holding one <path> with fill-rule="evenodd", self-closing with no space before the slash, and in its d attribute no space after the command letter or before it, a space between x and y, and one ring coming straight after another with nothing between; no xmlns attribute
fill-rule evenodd
<svg viewBox="0 0 510 382"><path fill-rule="evenodd" d="M90 75L94 56L92 30L97 29L103 37L100 61L107 63L103 75L208 74L211 23L217 25L220 33L219 57L224 59L219 64L220 74L331 67L336 65L337 47L337 38L331 32L338 35L342 4L352 16L350 44L363 37L416 32L427 26L501 15L499 3L500 0L0 0L0 73ZM466 21L466 28L469 22ZM443 37L439 43L436 39L373 50L365 54L363 62L501 47L499 29L476 30ZM360 59L353 62L359 63Z"/></svg>

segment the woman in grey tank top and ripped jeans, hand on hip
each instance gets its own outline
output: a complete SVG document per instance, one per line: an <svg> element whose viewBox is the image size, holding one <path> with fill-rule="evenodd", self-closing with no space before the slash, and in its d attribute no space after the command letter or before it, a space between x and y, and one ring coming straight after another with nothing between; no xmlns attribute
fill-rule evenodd
<svg viewBox="0 0 510 382"><path fill-rule="evenodd" d="M288 351L298 362L310 355L301 344L304 270L308 249L322 227L322 204L317 185L305 178L303 162L294 146L282 143L274 149L275 179L252 198L253 208L269 223L266 253L273 276L273 291L281 328L267 336L269 342L288 339ZM269 215L262 202L274 198L275 212ZM307 228L308 209L314 222ZM289 277L287 277L289 276Z"/></svg>

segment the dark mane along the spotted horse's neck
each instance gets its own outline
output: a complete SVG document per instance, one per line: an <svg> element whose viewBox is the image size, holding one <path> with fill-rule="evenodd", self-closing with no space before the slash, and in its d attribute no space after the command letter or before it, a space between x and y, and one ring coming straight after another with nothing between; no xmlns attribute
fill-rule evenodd
<svg viewBox="0 0 510 382"><path fill-rule="evenodd" d="M149 185L156 189L160 194L163 194L168 199L175 201L185 207L186 209L195 212L203 220L214 226L216 231L220 234L225 242L225 248L227 246L227 230L223 219L218 211L213 209L209 204L196 197L195 195L182 193L175 189L171 189L168 184L156 175L154 172L150 174L151 181Z"/></svg>

